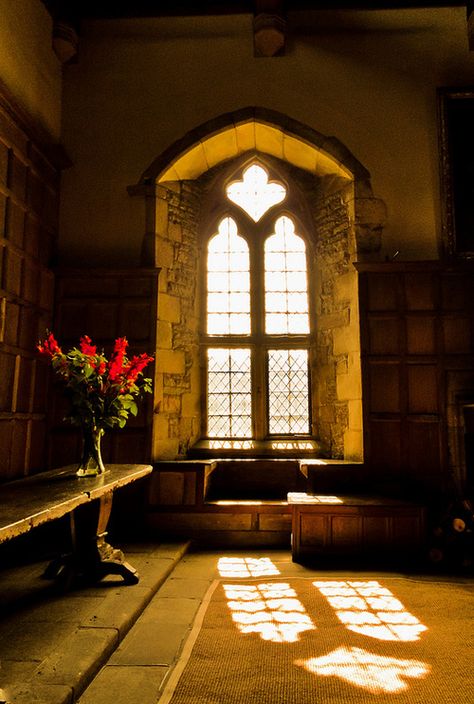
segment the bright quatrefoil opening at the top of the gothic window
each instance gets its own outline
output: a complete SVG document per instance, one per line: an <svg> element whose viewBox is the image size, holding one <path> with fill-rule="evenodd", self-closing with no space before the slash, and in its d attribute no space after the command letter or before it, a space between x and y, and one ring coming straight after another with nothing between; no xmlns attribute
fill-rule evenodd
<svg viewBox="0 0 474 704"><path fill-rule="evenodd" d="M281 203L286 189L281 183L268 181L267 172L258 164L245 169L242 181L227 186L227 197L258 222L273 205Z"/></svg>

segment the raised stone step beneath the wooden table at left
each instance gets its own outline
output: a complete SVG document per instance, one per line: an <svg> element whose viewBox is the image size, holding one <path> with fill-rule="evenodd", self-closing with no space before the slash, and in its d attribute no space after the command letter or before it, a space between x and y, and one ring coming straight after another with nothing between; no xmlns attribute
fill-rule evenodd
<svg viewBox="0 0 474 704"><path fill-rule="evenodd" d="M126 547L137 585L107 577L64 593L47 561L0 571L0 704L72 704L113 655L187 549Z"/></svg>

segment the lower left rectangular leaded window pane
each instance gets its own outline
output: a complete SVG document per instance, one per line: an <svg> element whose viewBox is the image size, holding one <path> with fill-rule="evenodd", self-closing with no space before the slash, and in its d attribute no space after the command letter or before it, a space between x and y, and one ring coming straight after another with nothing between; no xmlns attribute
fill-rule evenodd
<svg viewBox="0 0 474 704"><path fill-rule="evenodd" d="M207 350L207 434L252 437L250 350Z"/></svg>

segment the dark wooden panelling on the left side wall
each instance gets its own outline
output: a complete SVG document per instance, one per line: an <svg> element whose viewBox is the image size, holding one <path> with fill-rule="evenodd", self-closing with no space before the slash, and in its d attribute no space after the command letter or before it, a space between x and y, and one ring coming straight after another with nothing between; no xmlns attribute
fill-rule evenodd
<svg viewBox="0 0 474 704"><path fill-rule="evenodd" d="M0 91L0 482L47 468L47 370L36 344L53 313L60 165Z"/></svg>

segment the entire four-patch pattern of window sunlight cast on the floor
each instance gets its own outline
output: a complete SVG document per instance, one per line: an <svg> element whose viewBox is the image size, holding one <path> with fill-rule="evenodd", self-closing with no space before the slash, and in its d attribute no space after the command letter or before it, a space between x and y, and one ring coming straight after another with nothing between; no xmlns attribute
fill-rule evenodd
<svg viewBox="0 0 474 704"><path fill-rule="evenodd" d="M271 576L278 568L269 558L227 557L218 563L222 577ZM343 645L319 657L295 659L315 677L335 677L371 695L398 694L409 688L409 680L420 680L431 673L431 666L418 659L393 657L347 644L345 629L382 641L419 640L427 628L410 614L394 594L377 580L317 580L312 582L328 601L341 622ZM317 621L286 582L224 584L232 619L242 634L258 634L272 643L295 643L301 634L314 631L309 638L315 647L324 641ZM315 613L318 613L316 607ZM307 647L308 641L306 641ZM387 646L390 647L387 643ZM410 646L411 647L411 646ZM410 651L411 652L411 651Z"/></svg>

